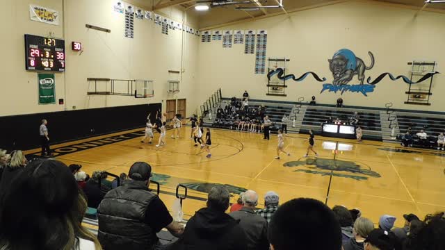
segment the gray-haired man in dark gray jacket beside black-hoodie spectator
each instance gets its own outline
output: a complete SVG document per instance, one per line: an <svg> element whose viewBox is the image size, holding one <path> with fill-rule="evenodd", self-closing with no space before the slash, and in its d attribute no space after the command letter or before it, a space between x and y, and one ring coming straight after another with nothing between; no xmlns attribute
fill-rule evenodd
<svg viewBox="0 0 445 250"><path fill-rule="evenodd" d="M243 195L243 208L239 211L229 213L229 215L234 217L234 219L240 220L239 224L241 228L244 229L249 250L268 250L268 222L255 213L254 208L257 204L258 194L252 190L248 190Z"/></svg>

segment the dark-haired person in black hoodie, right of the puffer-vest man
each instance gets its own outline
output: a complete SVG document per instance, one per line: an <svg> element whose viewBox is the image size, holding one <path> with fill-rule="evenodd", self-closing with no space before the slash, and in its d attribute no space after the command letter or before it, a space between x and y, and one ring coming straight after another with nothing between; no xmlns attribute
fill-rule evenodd
<svg viewBox="0 0 445 250"><path fill-rule="evenodd" d="M239 221L225 213L229 198L226 188L221 185L213 187L207 198L207 208L198 210L188 220L181 238L165 249L246 249L247 240Z"/></svg>

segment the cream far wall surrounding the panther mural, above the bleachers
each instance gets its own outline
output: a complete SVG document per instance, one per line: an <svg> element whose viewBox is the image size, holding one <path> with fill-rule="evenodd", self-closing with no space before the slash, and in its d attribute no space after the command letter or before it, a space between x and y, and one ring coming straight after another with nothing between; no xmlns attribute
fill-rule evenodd
<svg viewBox="0 0 445 250"><path fill-rule="evenodd" d="M438 71L445 64L445 15L422 12L414 18L416 10L382 6L381 4L350 1L332 6L293 12L289 17L280 15L218 30L266 29L268 31L267 56L286 57L291 62L288 74L297 77L305 72L316 72L325 76L325 83L332 83L327 59L342 48L350 49L369 65L368 51L375 56L375 67L366 72L366 77L376 78L384 72L410 76L412 60L436 60ZM240 97L248 90L254 99L296 101L298 97L310 99L316 96L319 103L334 103L340 96L323 92L322 83L308 76L305 81L287 84L287 97L268 97L266 75L254 74L254 55L243 52L243 44L234 44L232 49L223 49L222 42L200 42L199 46L199 88L203 93L200 103L216 88L221 87L223 96ZM355 81L358 83L357 76ZM406 105L408 88L403 81L389 78L378 83L375 91L364 97L362 94L346 92L346 105L384 107L392 101L394 108L444 111L445 91L443 74L433 81L432 106Z"/></svg>

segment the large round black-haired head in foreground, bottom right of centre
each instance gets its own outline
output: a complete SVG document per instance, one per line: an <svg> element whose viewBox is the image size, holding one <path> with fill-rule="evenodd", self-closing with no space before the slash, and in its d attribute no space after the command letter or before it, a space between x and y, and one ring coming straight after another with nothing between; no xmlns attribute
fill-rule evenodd
<svg viewBox="0 0 445 250"><path fill-rule="evenodd" d="M272 250L340 250L339 221L315 199L293 199L280 206L270 221Z"/></svg>

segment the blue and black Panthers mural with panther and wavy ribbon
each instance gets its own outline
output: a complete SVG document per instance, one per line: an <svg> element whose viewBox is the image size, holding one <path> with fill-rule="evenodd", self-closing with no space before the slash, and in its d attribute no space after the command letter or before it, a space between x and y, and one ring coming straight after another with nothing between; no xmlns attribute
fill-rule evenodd
<svg viewBox="0 0 445 250"><path fill-rule="evenodd" d="M371 63L369 66L366 66L364 61L361 58L358 58L355 56L355 53L353 51L350 51L349 49L340 49L339 51L334 53L334 56L332 56L332 59L328 59L329 62L329 69L332 72L333 80L332 83L323 83L323 88L321 89L320 93L325 92L326 90L328 92L341 92L343 94L344 92L355 92L355 93L362 93L365 97L368 96L368 93L374 92L375 85L382 81L385 76L389 76L389 78L392 81L396 81L400 78L403 79L405 83L408 84L415 84L415 83L421 83L425 81L428 78L431 78L435 74L439 74L439 72L432 72L428 73L425 76L423 76L419 81L412 82L410 78L407 76L393 76L391 73L382 73L377 78L375 78L373 81L371 81L371 76L369 76L366 79L366 83L364 84L364 79L366 78L365 73L372 69L375 64L375 58L373 53L371 51L368 52L369 57L371 58ZM290 80L293 81L303 81L305 78L311 74L314 76L316 81L318 82L324 82L326 81L326 78L319 77L315 72L306 72L305 74L302 74L300 77L296 77L294 74L288 74L284 75L284 69L277 68L272 71L270 71L267 74L268 79L274 75L277 75L277 78L279 78L281 81ZM354 76L357 76L357 79L359 81L358 84L350 84L350 81L353 81Z"/></svg>

